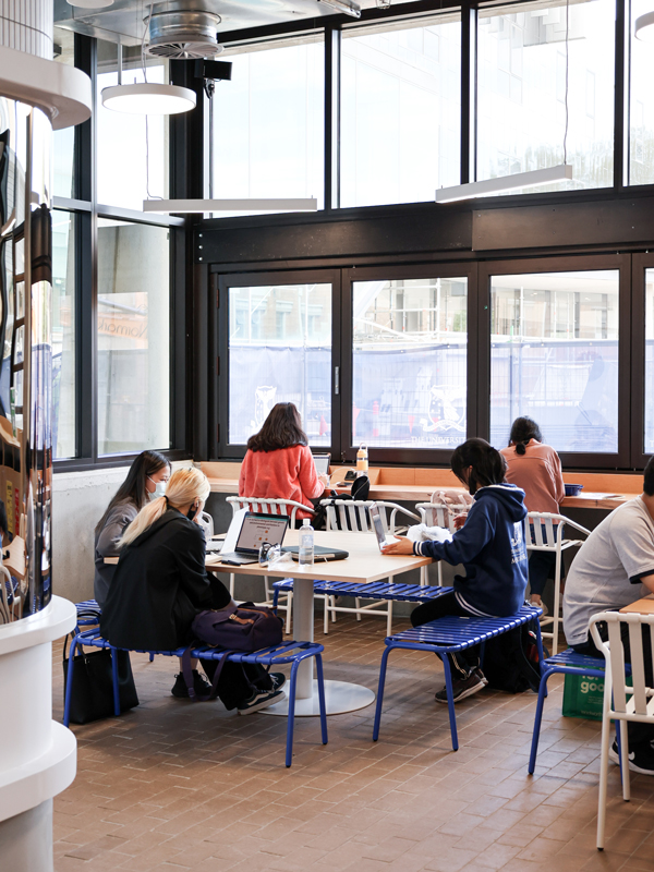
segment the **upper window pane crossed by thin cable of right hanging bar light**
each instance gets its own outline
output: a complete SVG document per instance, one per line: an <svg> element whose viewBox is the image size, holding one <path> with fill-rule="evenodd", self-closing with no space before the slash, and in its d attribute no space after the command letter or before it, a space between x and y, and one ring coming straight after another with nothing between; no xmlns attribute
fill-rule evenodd
<svg viewBox="0 0 654 872"><path fill-rule="evenodd" d="M613 185L615 13L615 0L581 0L567 26L560 2L480 10L480 180L562 164L567 124L573 181L530 192Z"/></svg>

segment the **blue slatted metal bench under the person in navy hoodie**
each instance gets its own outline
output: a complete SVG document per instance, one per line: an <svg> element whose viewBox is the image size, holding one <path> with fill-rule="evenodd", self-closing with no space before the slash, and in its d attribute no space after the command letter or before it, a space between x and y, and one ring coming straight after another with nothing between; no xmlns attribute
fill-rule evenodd
<svg viewBox="0 0 654 872"><path fill-rule="evenodd" d="M446 591L450 589L439 588ZM447 688L447 706L449 711L450 732L452 737L452 750L459 748L457 737L457 718L455 715L455 701L452 699L452 677L450 665L446 654L456 654L459 651L482 645L482 662L484 645L488 639L509 632L509 630L520 627L523 623L534 622L536 633L536 645L538 649L538 663L543 662L543 643L541 641L541 627L538 617L543 614L542 608L522 606L517 615L509 618L463 618L448 616L437 620L423 623L421 627L413 627L411 630L389 635L384 640L386 650L382 655L379 669L379 688L377 691L377 707L375 711L375 725L373 728L373 741L379 738L379 724L382 722L382 705L384 702L384 685L386 682L386 666L388 655L395 649L409 651L433 651L443 661L445 669L445 686Z"/></svg>

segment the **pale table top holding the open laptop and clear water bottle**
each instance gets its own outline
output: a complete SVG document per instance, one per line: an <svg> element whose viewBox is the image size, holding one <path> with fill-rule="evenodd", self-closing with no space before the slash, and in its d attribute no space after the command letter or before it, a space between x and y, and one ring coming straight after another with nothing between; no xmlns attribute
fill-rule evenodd
<svg viewBox="0 0 654 872"><path fill-rule="evenodd" d="M298 530L289 530L284 536L284 545L298 544ZM383 555L374 533L352 533L350 531L316 531L314 542L328 548L342 548L350 553L346 560L316 562L310 567L301 567L296 561L282 564L279 568L262 567L259 564L229 566L220 562L220 555L208 555L207 570L213 572L233 572L239 576L270 576L272 578L300 578L310 576L319 581L350 581L367 583L380 581L391 576L399 576L410 569L417 569L433 562L431 557L413 555Z"/></svg>

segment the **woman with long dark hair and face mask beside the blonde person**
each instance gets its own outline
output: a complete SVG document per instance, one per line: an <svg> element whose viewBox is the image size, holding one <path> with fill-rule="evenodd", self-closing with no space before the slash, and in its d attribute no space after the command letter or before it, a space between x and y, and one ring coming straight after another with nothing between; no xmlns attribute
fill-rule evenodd
<svg viewBox="0 0 654 872"><path fill-rule="evenodd" d="M118 488L95 529L94 595L105 605L116 565L107 557L118 557L118 542L141 509L154 496L164 496L170 479L168 458L158 451L142 451L133 461L128 477Z"/></svg>

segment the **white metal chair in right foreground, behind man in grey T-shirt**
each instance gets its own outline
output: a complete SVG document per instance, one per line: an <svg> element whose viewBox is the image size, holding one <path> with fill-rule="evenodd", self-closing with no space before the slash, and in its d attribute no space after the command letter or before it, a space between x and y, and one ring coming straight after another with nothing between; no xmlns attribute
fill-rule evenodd
<svg viewBox="0 0 654 872"><path fill-rule="evenodd" d="M603 622L608 628L608 642L605 642L600 634L598 625ZM629 632L632 687L627 686L625 644L622 642L623 626L628 628ZM650 638L652 638L654 615L621 615L619 611L602 611L598 615L593 615L590 621L590 630L595 646L604 654L606 662L604 711L602 716L602 755L600 758L600 797L597 804L598 850L604 850L610 722L616 720L620 725L620 768L622 771L622 799L625 801L631 798L627 722L635 720L641 724L654 725L654 688L647 687L645 680L644 627L650 628ZM649 652L647 665L652 668L651 651Z"/></svg>

